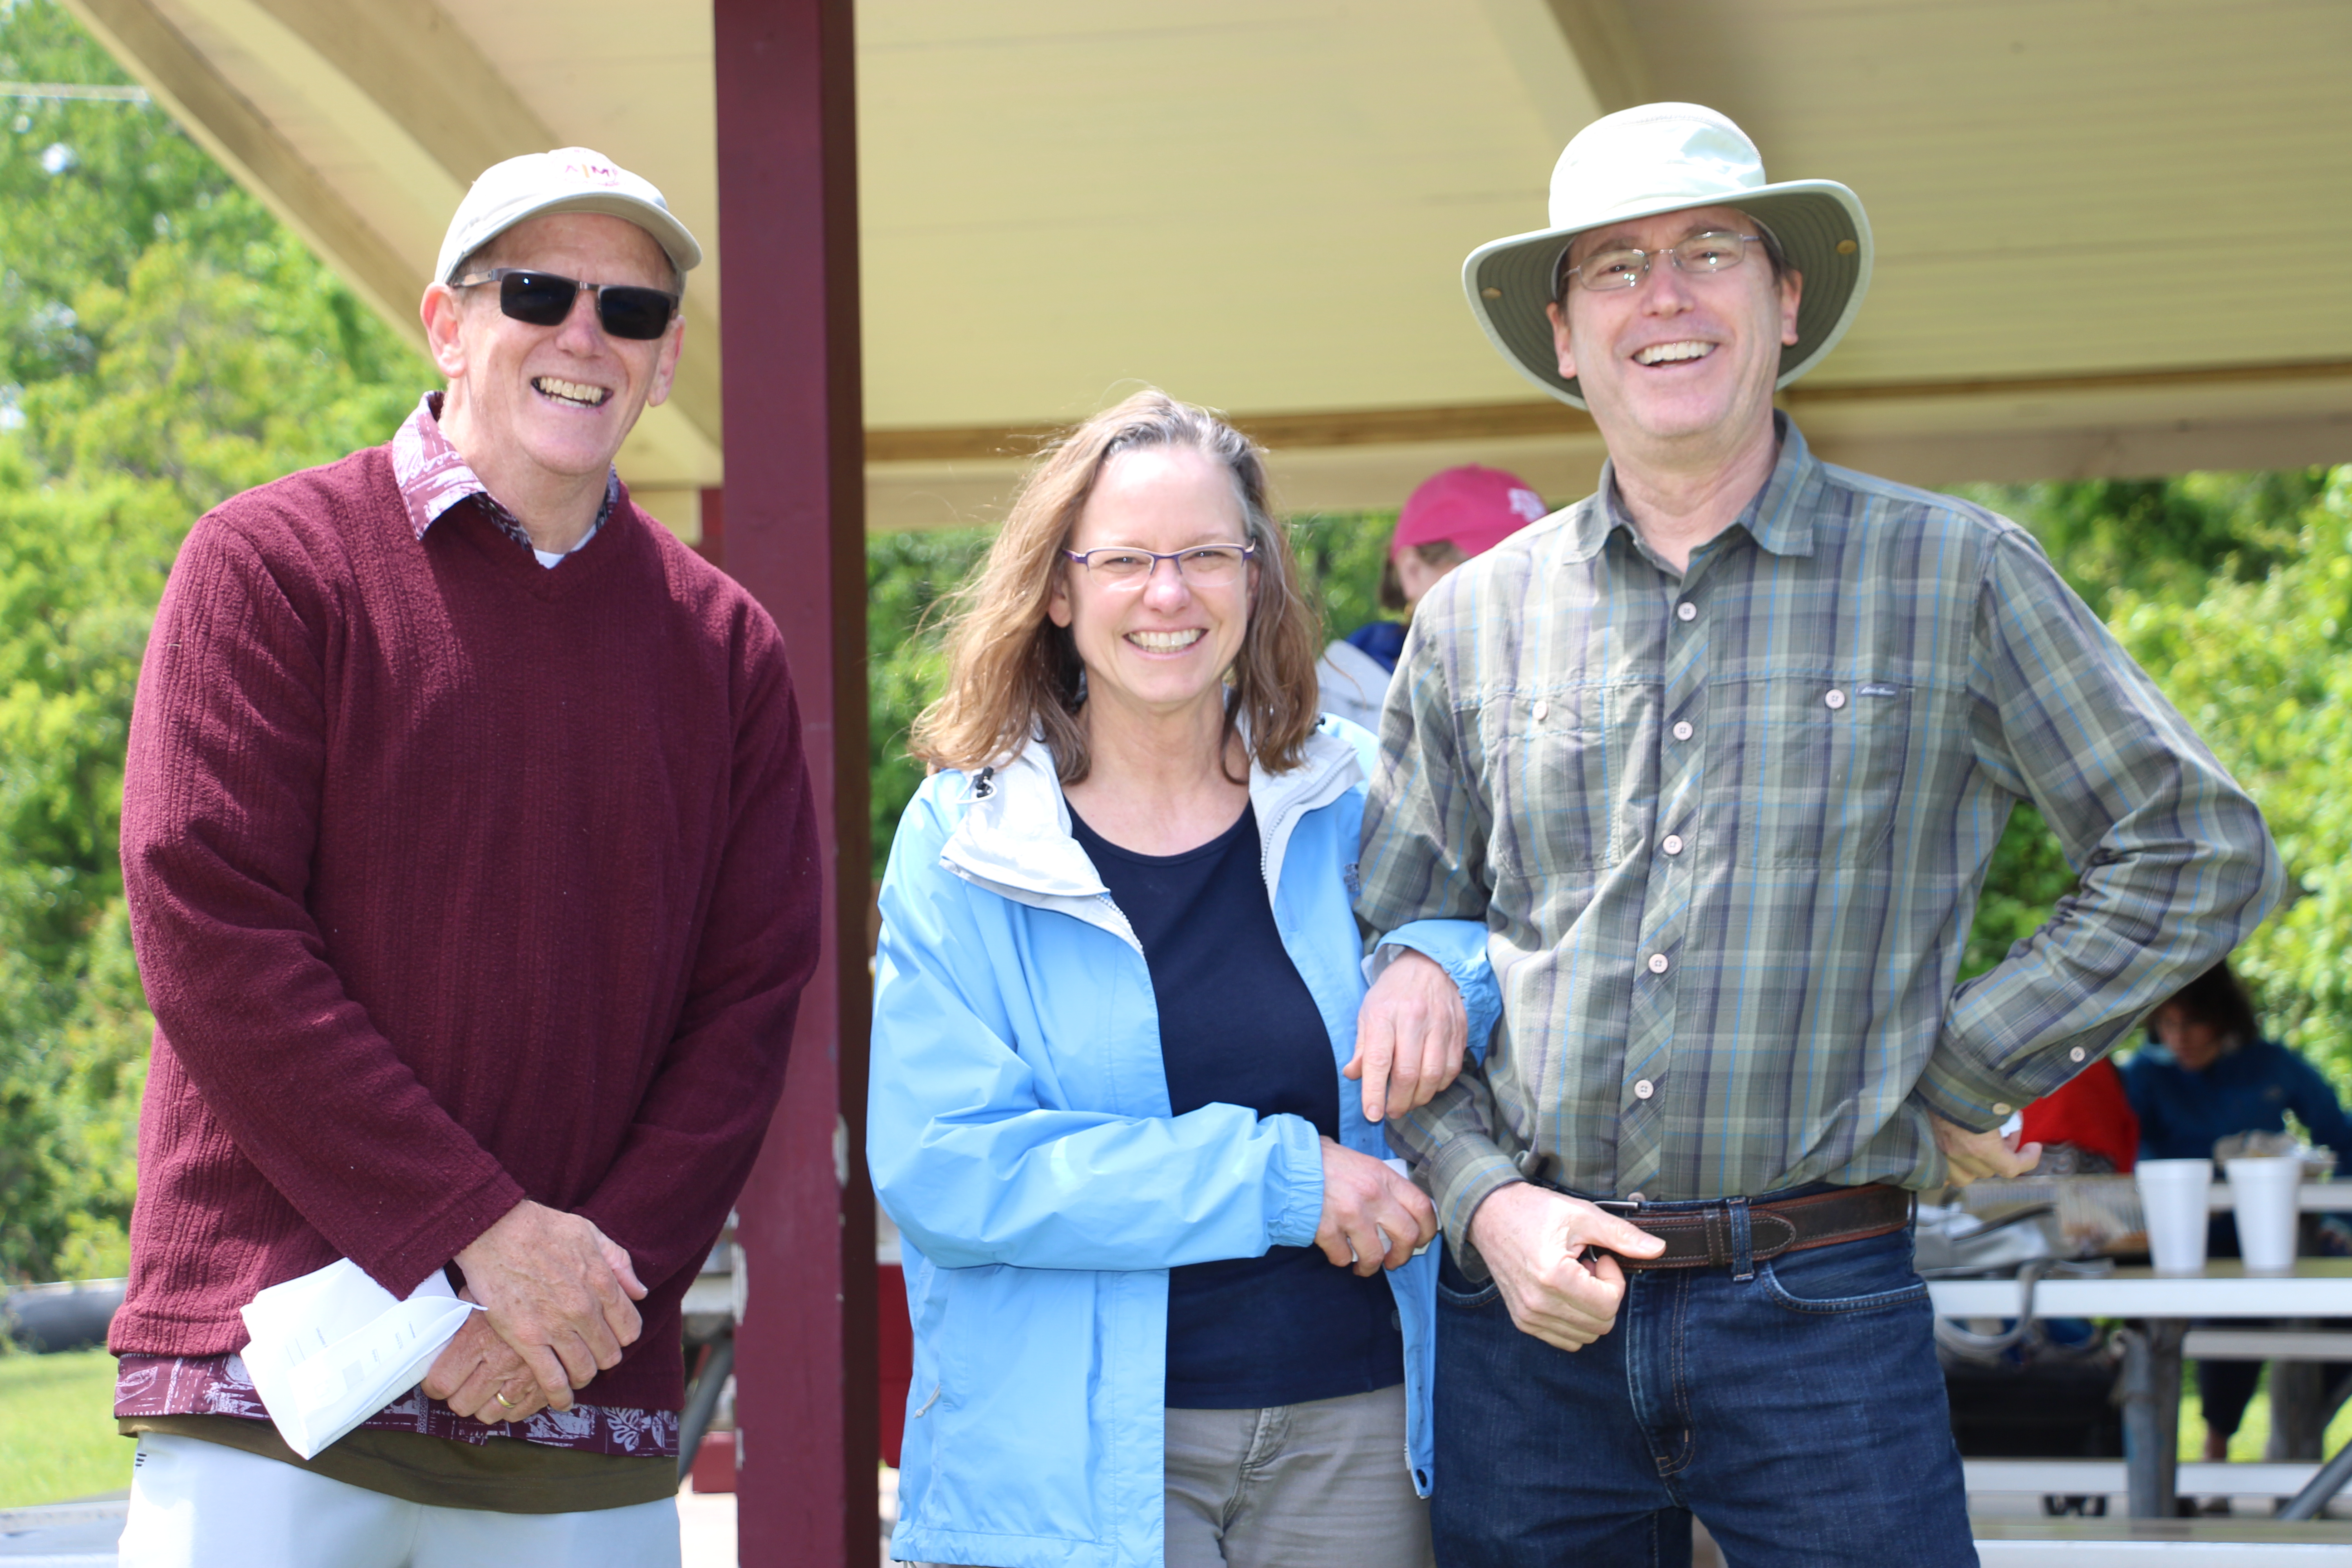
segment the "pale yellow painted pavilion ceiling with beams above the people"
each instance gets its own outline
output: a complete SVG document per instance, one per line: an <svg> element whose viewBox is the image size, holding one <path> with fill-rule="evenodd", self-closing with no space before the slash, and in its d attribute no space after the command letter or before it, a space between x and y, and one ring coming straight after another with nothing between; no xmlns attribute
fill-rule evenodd
<svg viewBox="0 0 2352 1568"><path fill-rule="evenodd" d="M515 150L595 146L722 242L708 5L68 2L402 329ZM1564 139L1642 96L1870 207L1870 303L1792 397L1823 449L1924 480L2352 458L2347 73L2345 0L866 0L875 522L985 510L993 433L1141 381L1261 421L1301 503L1475 456L1588 484L1590 425L1531 407L1461 259L1538 228ZM642 489L722 477L715 299L713 268Z"/></svg>

